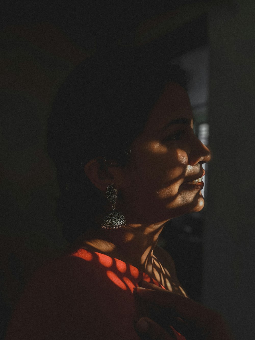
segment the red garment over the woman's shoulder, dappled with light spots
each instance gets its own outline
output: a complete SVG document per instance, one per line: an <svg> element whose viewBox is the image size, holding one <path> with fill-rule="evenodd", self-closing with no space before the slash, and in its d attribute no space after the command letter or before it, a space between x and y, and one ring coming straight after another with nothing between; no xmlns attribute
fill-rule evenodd
<svg viewBox="0 0 255 340"><path fill-rule="evenodd" d="M5 340L139 340L134 324L142 315L133 288L142 279L159 286L104 254L80 249L57 259L31 280Z"/></svg>

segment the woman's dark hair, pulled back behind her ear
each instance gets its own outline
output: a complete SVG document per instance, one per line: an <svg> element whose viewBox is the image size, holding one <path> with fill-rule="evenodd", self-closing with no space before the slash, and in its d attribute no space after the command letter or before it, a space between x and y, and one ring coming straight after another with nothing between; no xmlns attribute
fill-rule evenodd
<svg viewBox="0 0 255 340"><path fill-rule="evenodd" d="M57 210L69 242L94 226L104 203L84 165L98 158L125 166L130 145L165 85L175 81L186 88L187 78L166 56L145 48L97 53L67 77L49 117L47 146L57 168Z"/></svg>

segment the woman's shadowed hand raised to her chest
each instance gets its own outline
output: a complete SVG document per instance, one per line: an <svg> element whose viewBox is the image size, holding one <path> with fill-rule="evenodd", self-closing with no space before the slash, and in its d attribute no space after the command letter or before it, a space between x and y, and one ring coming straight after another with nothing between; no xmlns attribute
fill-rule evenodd
<svg viewBox="0 0 255 340"><path fill-rule="evenodd" d="M143 281L136 294L157 309L157 320L142 317L136 329L142 339L174 340L172 327L187 340L232 340L222 316L187 297ZM155 310L154 308L154 310ZM161 311L161 312L160 312ZM141 328L142 321L148 324ZM155 322L156 321L156 322Z"/></svg>

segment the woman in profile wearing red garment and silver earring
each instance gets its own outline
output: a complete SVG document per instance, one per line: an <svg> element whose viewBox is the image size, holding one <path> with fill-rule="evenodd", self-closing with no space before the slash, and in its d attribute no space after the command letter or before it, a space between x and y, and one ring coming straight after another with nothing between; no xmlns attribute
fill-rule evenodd
<svg viewBox="0 0 255 340"><path fill-rule="evenodd" d="M186 84L146 50L101 53L69 75L48 150L71 245L31 280L6 339L230 339L157 246L168 220L204 205L210 151L193 133Z"/></svg>

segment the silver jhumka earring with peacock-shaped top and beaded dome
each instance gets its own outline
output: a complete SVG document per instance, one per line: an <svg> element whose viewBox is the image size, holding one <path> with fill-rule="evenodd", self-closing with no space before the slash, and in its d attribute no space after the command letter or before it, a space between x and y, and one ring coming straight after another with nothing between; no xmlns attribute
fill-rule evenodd
<svg viewBox="0 0 255 340"><path fill-rule="evenodd" d="M117 193L118 190L114 189L114 184L108 185L106 189L106 197L108 201L113 204L113 210L108 212L108 214L103 219L102 228L105 229L118 229L124 225L126 225L126 220L124 216L115 209L115 204L117 201Z"/></svg>

